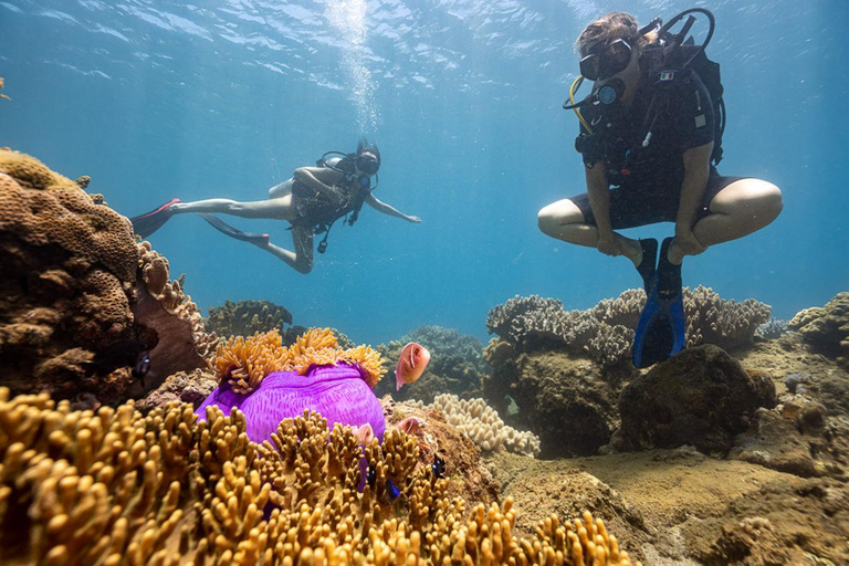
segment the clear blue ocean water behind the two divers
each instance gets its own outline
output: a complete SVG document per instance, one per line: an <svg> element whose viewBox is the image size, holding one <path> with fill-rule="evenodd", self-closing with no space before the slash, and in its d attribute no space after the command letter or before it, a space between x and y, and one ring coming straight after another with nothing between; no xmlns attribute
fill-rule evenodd
<svg viewBox="0 0 849 566"><path fill-rule="evenodd" d="M784 191L769 227L684 264L684 284L756 297L776 317L849 282L849 76L842 1L700 2L717 22L729 126L724 175ZM514 294L586 308L640 280L628 260L543 235L536 213L583 192L573 42L596 17L640 22L681 0L329 2L0 1L0 146L91 175L127 216L179 197L261 200L360 135L382 154L376 196L302 275L191 216L150 238L206 311L282 304L295 324L382 342L423 324L485 337ZM291 248L284 222L232 219ZM663 237L672 224L629 234Z"/></svg>

